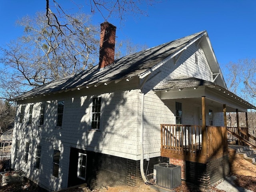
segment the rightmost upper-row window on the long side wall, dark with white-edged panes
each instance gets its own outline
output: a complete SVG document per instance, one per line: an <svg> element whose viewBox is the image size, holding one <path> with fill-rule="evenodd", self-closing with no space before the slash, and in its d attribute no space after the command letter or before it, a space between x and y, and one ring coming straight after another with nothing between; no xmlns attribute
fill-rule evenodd
<svg viewBox="0 0 256 192"><path fill-rule="evenodd" d="M100 128L101 97L92 98L92 129Z"/></svg>

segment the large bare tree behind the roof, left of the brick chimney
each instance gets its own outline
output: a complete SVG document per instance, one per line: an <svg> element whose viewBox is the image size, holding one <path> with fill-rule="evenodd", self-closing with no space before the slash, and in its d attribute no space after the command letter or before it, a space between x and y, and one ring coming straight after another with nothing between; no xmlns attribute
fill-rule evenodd
<svg viewBox="0 0 256 192"><path fill-rule="evenodd" d="M68 28L60 32L48 25L44 13L34 18L24 17L17 23L24 27L24 35L0 47L1 90L10 99L17 94L90 68L98 60L98 29L90 24L90 17L77 14L63 17ZM56 23L54 20L52 25Z"/></svg>

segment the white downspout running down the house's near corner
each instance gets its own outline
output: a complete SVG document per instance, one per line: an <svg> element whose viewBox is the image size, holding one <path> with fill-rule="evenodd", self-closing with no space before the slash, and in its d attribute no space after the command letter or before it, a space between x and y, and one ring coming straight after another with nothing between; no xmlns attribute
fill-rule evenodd
<svg viewBox="0 0 256 192"><path fill-rule="evenodd" d="M144 174L144 147L143 147L143 129L144 129L144 93L141 93L141 106L140 106L140 174L144 183L148 180Z"/></svg>

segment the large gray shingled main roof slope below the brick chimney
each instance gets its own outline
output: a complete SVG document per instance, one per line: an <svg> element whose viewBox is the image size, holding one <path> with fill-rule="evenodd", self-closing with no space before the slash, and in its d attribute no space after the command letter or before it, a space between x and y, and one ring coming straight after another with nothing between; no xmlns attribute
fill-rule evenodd
<svg viewBox="0 0 256 192"><path fill-rule="evenodd" d="M72 89L80 86L109 82L132 76L139 76L140 74L150 70L168 56L185 47L204 32L205 31L198 32L172 42L124 56L115 60L114 64L111 64L104 70L98 70L97 65L78 74L62 78L60 80L54 80L48 84L34 88L13 100L58 92L60 90L68 90L70 88Z"/></svg>

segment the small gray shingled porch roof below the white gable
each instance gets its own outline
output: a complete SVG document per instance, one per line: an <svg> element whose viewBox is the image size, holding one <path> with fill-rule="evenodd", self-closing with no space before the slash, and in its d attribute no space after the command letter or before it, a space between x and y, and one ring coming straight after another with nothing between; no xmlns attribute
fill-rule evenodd
<svg viewBox="0 0 256 192"><path fill-rule="evenodd" d="M180 74L176 76L174 79L171 79L165 82L164 84L158 86L154 90L168 90L168 89L170 90L170 89L208 86L208 85L216 85L216 83Z"/></svg>

